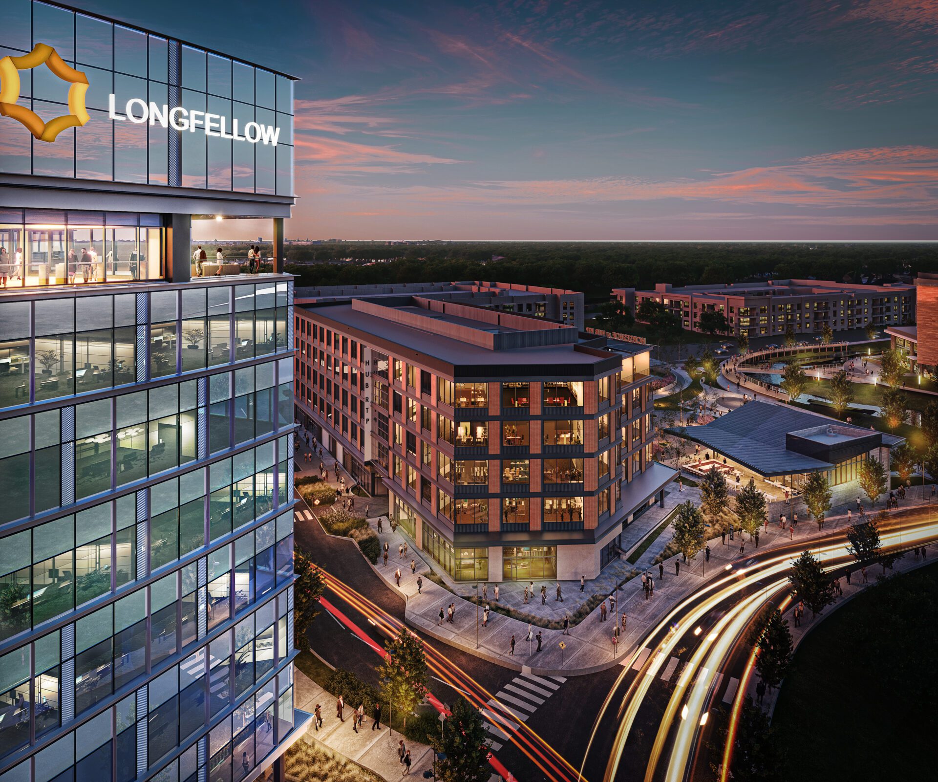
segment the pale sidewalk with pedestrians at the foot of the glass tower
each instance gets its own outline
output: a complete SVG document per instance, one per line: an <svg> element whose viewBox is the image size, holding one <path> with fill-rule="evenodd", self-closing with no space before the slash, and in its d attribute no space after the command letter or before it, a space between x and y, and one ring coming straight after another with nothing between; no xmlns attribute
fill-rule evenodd
<svg viewBox="0 0 938 782"><path fill-rule="evenodd" d="M358 732L352 729L352 710L358 704L345 704L345 721L336 716L336 696L327 692L301 670L294 670L294 705L304 712L313 713L316 704L322 706L323 727L318 730L310 723L306 737L312 744L323 744L328 749L384 777L388 782L400 779L403 766L398 760L398 742L404 739L396 730L386 725L380 729L371 729L371 714L365 715ZM387 704L385 704L386 706ZM386 709L382 710L382 718ZM426 744L404 739L404 745L411 751L411 776L421 778L423 773L433 766L433 752Z"/></svg>

